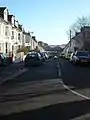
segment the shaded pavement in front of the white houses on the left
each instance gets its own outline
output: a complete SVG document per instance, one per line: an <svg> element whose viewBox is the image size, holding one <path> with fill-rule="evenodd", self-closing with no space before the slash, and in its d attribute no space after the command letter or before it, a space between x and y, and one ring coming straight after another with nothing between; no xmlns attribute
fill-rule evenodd
<svg viewBox="0 0 90 120"><path fill-rule="evenodd" d="M8 79L23 73L23 70L25 70L23 62L12 63L6 67L0 66L0 85L7 82Z"/></svg>

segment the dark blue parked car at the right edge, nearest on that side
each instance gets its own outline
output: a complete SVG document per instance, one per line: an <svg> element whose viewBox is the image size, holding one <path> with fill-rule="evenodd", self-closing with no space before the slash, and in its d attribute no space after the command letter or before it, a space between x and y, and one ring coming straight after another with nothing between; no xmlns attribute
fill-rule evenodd
<svg viewBox="0 0 90 120"><path fill-rule="evenodd" d="M74 64L87 64L90 63L90 53L88 51L76 51L73 55L73 63Z"/></svg>

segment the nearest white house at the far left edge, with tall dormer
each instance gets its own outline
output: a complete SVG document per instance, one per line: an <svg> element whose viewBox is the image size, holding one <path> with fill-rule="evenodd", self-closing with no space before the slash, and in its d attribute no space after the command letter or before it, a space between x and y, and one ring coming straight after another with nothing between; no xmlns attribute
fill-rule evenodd
<svg viewBox="0 0 90 120"><path fill-rule="evenodd" d="M8 22L8 10L0 10L0 52L7 53L11 50L11 29L12 25Z"/></svg>

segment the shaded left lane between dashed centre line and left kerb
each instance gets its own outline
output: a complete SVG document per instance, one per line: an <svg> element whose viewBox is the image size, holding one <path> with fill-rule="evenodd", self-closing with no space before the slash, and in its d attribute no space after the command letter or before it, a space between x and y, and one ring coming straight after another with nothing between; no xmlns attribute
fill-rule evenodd
<svg viewBox="0 0 90 120"><path fill-rule="evenodd" d="M32 66L29 67L28 70L15 77L13 80L9 80L6 84L13 84L13 83L21 83L21 82L28 82L28 81L42 81L45 79L54 79L58 78L57 73L57 61L50 59L46 63L44 63L42 66Z"/></svg>

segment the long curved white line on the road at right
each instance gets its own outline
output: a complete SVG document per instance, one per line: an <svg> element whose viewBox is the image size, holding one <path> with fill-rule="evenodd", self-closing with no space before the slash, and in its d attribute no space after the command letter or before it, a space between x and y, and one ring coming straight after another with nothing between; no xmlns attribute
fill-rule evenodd
<svg viewBox="0 0 90 120"><path fill-rule="evenodd" d="M90 100L90 97L85 96L85 95L83 95L83 94L81 94L81 93L79 93L79 92L76 92L75 90L70 89L67 85L64 84L64 82L63 82L62 80L60 81L60 83L63 85L63 87L64 87L65 89L67 89L68 91L74 93L75 95L78 95L79 97L82 97L82 98L84 98L84 99Z"/></svg>

